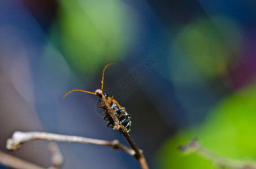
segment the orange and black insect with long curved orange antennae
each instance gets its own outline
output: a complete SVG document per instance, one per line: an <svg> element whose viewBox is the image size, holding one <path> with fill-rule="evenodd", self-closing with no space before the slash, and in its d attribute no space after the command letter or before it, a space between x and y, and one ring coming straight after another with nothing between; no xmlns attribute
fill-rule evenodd
<svg viewBox="0 0 256 169"><path fill-rule="evenodd" d="M103 69L103 73L102 73L102 81L101 81L101 90L98 90L98 91L101 91L102 92L102 89L103 89L103 82L104 82L104 72L105 72L105 69L107 68L107 66L109 66L110 64L113 64L114 62L111 62L109 64L107 64L105 66L105 68ZM81 91L81 92L86 92L88 94L93 94L93 95L97 95L96 92L89 92L89 91L85 91L85 90L80 90L80 89L75 89L75 90L71 90L69 92L67 92L64 96L63 96L63 99L64 97L66 97L68 94L70 94L71 92L73 91ZM130 114L128 114L125 110L125 108L123 108L119 103L118 101L116 101L114 99L114 96L112 97L109 97L107 94L103 94L103 97L105 97L105 99L107 100L107 104L109 104L110 108L113 110L113 112L115 113L116 117L118 118L118 120L120 121L120 124L122 124L125 128L126 128L126 131L129 132L131 129L131 120L130 118L132 117ZM107 123L107 127L114 127L114 119L112 119L109 111L107 110L106 106L103 104L103 101L101 99L101 97L99 97L99 101L101 102L102 106L98 106L98 108L101 108L103 109L104 113L105 113L105 117L103 117L103 120L109 122Z"/></svg>

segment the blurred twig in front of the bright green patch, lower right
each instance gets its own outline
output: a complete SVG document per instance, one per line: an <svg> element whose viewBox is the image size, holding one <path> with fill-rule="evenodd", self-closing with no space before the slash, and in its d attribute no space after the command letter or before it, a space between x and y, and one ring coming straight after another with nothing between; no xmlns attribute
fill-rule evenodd
<svg viewBox="0 0 256 169"><path fill-rule="evenodd" d="M179 150L183 153L196 153L199 157L216 164L216 166L220 168L256 169L255 162L239 161L219 157L218 155L212 153L209 149L206 149L198 144L196 139L190 141L188 144L179 146Z"/></svg>

